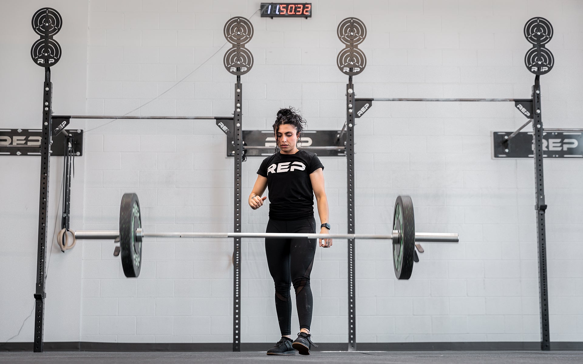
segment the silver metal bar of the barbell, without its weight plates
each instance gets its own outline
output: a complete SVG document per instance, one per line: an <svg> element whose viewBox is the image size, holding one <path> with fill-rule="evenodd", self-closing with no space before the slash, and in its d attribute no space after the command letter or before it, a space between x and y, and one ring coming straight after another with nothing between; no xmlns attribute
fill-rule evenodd
<svg viewBox="0 0 583 364"><path fill-rule="evenodd" d="M136 229L136 235L143 238L308 238L308 239L392 239L398 235L375 234L291 234L275 232L143 232ZM117 230L78 230L76 239L115 239L120 236ZM457 243L459 236L449 232L416 232L415 241Z"/></svg>

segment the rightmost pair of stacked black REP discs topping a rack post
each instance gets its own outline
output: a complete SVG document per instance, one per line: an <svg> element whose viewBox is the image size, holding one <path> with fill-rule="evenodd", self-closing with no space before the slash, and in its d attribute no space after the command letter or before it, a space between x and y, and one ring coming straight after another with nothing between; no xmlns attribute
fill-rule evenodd
<svg viewBox="0 0 583 364"><path fill-rule="evenodd" d="M524 37L534 44L524 56L524 64L535 75L549 73L554 65L553 54L545 47L553 38L553 26L543 17L533 17L524 26Z"/></svg>

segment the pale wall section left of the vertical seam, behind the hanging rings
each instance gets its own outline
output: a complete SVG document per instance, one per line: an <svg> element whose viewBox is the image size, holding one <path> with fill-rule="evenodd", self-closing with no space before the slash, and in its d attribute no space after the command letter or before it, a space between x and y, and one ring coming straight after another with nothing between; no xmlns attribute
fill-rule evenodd
<svg viewBox="0 0 583 364"><path fill-rule="evenodd" d="M38 35L34 13L58 9L64 27L54 36L62 58L51 69L53 111L84 114L87 85L87 12L89 1L2 2L0 25L0 128L40 129L43 116L44 68L34 64L30 48ZM71 126L73 128L84 126ZM0 342L33 341L36 291L40 158L0 156ZM71 190L71 226L83 223L85 157L75 158ZM51 157L47 215L46 341L79 341L82 300L82 248L61 253L54 231L61 229L63 157ZM62 197L61 197L62 198ZM57 214L58 210L58 214ZM24 321L24 325L23 325Z"/></svg>

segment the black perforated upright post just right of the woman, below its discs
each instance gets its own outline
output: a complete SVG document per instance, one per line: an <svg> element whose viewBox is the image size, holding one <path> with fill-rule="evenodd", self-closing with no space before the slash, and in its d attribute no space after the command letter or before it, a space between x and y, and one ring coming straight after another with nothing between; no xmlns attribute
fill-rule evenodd
<svg viewBox="0 0 583 364"><path fill-rule="evenodd" d="M354 86L352 76L346 85L346 193L347 234L354 234ZM356 252L354 239L348 239L348 351L356 351Z"/></svg>

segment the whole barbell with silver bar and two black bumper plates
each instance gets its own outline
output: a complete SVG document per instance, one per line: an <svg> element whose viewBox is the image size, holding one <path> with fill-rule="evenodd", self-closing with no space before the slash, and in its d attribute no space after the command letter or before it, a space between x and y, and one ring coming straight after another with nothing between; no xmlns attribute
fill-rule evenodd
<svg viewBox="0 0 583 364"><path fill-rule="evenodd" d="M138 277L142 267L142 243L145 238L308 238L308 239L388 239L392 241L393 267L399 280L408 280L413 262L419 261L415 242L457 243L458 234L443 232L415 232L413 201L409 196L398 196L395 202L391 234L292 234L271 232L145 232L138 195L124 193L120 205L119 230L70 231L73 239L114 239L120 241L121 265L128 278ZM117 249L117 248L116 248Z"/></svg>

